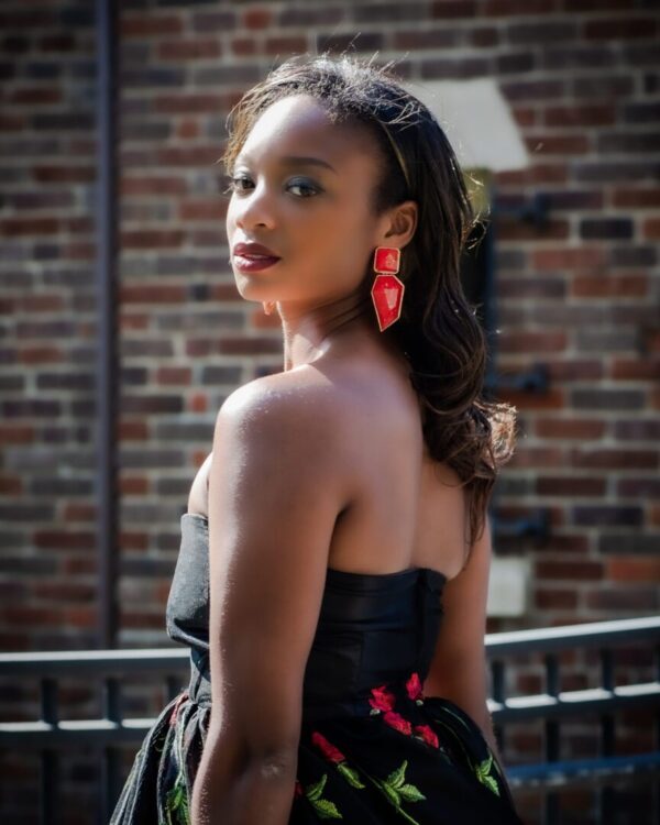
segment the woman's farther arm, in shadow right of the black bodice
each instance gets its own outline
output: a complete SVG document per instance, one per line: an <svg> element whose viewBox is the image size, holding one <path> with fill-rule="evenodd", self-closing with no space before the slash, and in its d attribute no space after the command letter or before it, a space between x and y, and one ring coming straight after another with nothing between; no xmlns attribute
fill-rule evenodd
<svg viewBox="0 0 660 825"><path fill-rule="evenodd" d="M485 632L491 556L486 516L468 563L444 586L442 623L425 682L427 695L450 698L482 726L487 722Z"/></svg>

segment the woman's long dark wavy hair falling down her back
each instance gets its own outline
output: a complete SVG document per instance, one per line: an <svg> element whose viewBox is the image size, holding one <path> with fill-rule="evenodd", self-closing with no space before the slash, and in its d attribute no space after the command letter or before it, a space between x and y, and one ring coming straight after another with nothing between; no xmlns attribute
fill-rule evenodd
<svg viewBox="0 0 660 825"><path fill-rule="evenodd" d="M287 61L230 112L223 161L231 174L268 106L310 95L332 122L359 123L372 132L382 157L375 213L407 199L417 201L418 226L402 254L402 317L383 334L396 341L410 364L430 455L451 466L465 487L472 544L482 534L498 469L514 450L516 410L482 397L486 341L460 277L461 255L476 220L463 174L436 118L399 85L391 67L349 55ZM367 299L372 278L373 273L365 274Z"/></svg>

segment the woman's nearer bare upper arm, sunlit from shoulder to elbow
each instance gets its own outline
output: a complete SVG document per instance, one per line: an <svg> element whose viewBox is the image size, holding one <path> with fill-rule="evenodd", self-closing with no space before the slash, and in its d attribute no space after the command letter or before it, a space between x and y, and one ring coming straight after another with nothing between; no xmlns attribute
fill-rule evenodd
<svg viewBox="0 0 660 825"><path fill-rule="evenodd" d="M314 394L266 387L223 405L209 476L211 732L234 758L297 747L341 495Z"/></svg>

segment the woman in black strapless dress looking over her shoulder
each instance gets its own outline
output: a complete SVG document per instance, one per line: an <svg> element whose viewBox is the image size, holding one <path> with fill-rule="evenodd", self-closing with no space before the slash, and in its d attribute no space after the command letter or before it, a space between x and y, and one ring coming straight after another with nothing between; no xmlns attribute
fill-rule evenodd
<svg viewBox="0 0 660 825"><path fill-rule="evenodd" d="M238 289L277 309L284 371L218 414L167 608L190 686L112 822L517 823L484 657L514 410L480 397L454 154L386 70L323 56L243 97L224 161Z"/></svg>

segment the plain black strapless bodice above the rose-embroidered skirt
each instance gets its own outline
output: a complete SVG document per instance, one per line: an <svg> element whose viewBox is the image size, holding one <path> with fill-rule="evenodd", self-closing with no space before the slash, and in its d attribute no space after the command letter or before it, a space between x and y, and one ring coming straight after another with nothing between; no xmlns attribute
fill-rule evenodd
<svg viewBox="0 0 660 825"><path fill-rule="evenodd" d="M361 702L374 684L428 673L442 613L442 573L413 568L363 574L328 568L304 683L304 704ZM208 524L182 516L182 543L167 602L167 632L208 653Z"/></svg>

